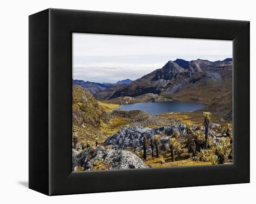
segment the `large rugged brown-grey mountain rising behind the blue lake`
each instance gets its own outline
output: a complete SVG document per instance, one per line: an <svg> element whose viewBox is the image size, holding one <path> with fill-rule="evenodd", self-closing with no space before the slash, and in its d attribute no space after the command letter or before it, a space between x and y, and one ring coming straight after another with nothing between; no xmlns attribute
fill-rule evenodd
<svg viewBox="0 0 256 204"><path fill-rule="evenodd" d="M153 93L177 100L201 102L214 108L232 108L232 58L168 61L157 69L124 87L110 97L141 96ZM226 102L226 103L224 103Z"/></svg>

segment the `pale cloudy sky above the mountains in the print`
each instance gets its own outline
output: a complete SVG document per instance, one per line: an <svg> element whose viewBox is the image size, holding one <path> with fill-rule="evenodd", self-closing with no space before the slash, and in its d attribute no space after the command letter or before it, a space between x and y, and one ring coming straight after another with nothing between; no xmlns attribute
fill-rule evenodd
<svg viewBox="0 0 256 204"><path fill-rule="evenodd" d="M231 57L231 40L73 33L73 79L90 82L135 80L177 58Z"/></svg>

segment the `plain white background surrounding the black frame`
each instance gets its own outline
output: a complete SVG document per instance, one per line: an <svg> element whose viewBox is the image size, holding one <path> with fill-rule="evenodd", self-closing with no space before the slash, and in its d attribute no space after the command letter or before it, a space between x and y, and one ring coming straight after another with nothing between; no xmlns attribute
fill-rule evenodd
<svg viewBox="0 0 256 204"><path fill-rule="evenodd" d="M52 8L250 20L251 61L255 60L253 0L2 0L0 2L0 203L253 203L255 148L251 183L47 197L27 188L28 181L28 15ZM253 61L252 61L253 62ZM256 75L251 63L251 104ZM251 144L255 144L251 110ZM241 135L243 137L243 135ZM252 147L252 145L251 145ZM210 175L209 175L210 177Z"/></svg>

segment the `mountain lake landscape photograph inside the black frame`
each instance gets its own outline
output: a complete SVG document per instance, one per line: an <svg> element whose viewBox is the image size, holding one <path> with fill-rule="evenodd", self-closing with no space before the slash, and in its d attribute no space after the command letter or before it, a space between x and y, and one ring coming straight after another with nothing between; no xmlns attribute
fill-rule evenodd
<svg viewBox="0 0 256 204"><path fill-rule="evenodd" d="M225 165L232 41L73 33L72 171Z"/></svg>

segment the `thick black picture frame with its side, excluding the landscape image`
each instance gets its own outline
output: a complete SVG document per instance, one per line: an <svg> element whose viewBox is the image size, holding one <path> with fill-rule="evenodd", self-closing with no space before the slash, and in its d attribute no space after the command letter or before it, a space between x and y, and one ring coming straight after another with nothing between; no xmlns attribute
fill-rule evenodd
<svg viewBox="0 0 256 204"><path fill-rule="evenodd" d="M72 172L72 32L233 40L233 164ZM46 195L249 182L249 21L47 9L29 16L29 188Z"/></svg>

